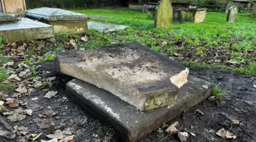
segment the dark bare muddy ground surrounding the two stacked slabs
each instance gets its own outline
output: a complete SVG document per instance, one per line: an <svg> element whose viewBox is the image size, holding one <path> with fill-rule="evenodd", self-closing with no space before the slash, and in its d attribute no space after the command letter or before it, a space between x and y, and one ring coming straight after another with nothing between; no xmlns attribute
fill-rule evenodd
<svg viewBox="0 0 256 142"><path fill-rule="evenodd" d="M71 131L76 135L76 141L122 141L115 136L115 132L105 123L88 114L75 102L65 95L65 84L71 77L60 74L55 61L46 62L38 70L46 77L57 77L51 88L37 89L30 96L23 96L28 106L33 110L32 116L27 116L22 122L9 122L12 127L25 126L31 133L43 132L37 141L49 140L45 136L55 130ZM46 72L47 71L47 72ZM226 90L223 101L205 100L201 104L181 113L174 121L180 123L180 131L193 132L187 141L256 141L256 76L237 76L235 73L214 72L211 70L190 71L190 74L218 85ZM43 98L44 89L58 91L58 94L50 99ZM13 93L9 93L12 95ZM31 100L31 98L37 98ZM41 116L45 111L52 110L54 116ZM198 115L200 110L204 115ZM1 116L2 117L2 116ZM3 116L6 120L7 116ZM42 121L44 119L44 121ZM232 120L239 120L239 125L231 125ZM82 121L84 121L83 125ZM167 126L167 125L166 125ZM162 127L164 129L164 127ZM215 132L225 128L230 129L237 138L234 140L223 140ZM177 134L169 134L159 128L139 141L180 141ZM0 130L5 128L0 124ZM19 141L22 137L14 140L0 137L0 141Z"/></svg>

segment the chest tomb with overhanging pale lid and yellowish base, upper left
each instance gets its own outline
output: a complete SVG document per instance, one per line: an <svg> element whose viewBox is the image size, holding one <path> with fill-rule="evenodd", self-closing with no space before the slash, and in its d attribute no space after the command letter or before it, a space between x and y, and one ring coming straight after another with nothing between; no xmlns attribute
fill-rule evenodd
<svg viewBox="0 0 256 142"><path fill-rule="evenodd" d="M42 7L28 10L22 13L30 19L51 24L55 32L83 33L87 31L87 19L89 16L67 10Z"/></svg>

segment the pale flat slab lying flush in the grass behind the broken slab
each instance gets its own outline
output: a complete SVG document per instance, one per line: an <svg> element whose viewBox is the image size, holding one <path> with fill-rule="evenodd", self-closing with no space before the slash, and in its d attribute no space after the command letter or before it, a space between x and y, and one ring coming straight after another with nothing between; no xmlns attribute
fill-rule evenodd
<svg viewBox="0 0 256 142"><path fill-rule="evenodd" d="M129 26L123 26L119 24L111 24L111 23L103 23L103 22L95 22L95 21L90 21L88 22L88 29L96 29L97 31L100 32L113 32L116 30L124 30Z"/></svg>

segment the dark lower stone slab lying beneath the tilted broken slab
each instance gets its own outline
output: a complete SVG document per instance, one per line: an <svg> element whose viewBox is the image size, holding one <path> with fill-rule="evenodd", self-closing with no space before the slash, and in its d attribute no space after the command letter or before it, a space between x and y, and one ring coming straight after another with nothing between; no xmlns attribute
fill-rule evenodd
<svg viewBox="0 0 256 142"><path fill-rule="evenodd" d="M202 102L212 94L213 85L189 76L188 83L180 88L173 105L140 112L106 90L81 80L66 85L66 94L87 112L110 124L121 141L136 141L146 136L181 112Z"/></svg>

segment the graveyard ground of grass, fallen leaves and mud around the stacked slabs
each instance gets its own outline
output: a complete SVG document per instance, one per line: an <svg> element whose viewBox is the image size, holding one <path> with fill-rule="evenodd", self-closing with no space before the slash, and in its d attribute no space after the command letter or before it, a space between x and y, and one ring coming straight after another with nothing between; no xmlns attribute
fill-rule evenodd
<svg viewBox="0 0 256 142"><path fill-rule="evenodd" d="M0 137L0 141L50 140L46 135L55 130L65 131L65 136L76 135L77 141L118 141L111 127L65 95L65 84L72 78L59 73L55 53L134 40L188 66L191 76L218 85L226 94L215 93L218 99L181 113L139 141L179 141L177 134L164 132L174 121L180 123L178 130L196 135L190 135L188 141L231 141L215 134L221 128L237 136L232 141L256 141L256 19L250 18L250 13L239 13L235 23L226 23L225 13L207 12L204 23L174 23L172 30L167 30L154 29L154 21L148 20L146 13L129 9L73 11L111 16L93 20L130 28L111 33L90 30L81 35L56 34L52 39L13 44L0 41L0 64L4 66L0 68L0 97L5 101L1 113L12 127L18 126L13 138L13 133L4 133L6 128L0 124L0 135L7 137ZM58 93L44 98L49 90ZM233 120L239 124L232 124ZM27 137L41 132L41 136Z"/></svg>

